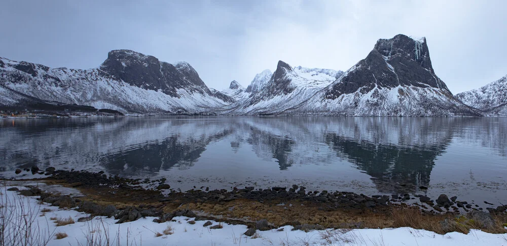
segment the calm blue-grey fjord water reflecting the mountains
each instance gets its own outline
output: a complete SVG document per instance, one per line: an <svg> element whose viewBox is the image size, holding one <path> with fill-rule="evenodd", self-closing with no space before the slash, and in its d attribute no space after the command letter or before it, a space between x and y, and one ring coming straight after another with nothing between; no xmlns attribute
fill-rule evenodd
<svg viewBox="0 0 507 246"><path fill-rule="evenodd" d="M298 184L507 197L507 118L16 119L0 120L0 135L4 177L38 165L166 178L182 190Z"/></svg>

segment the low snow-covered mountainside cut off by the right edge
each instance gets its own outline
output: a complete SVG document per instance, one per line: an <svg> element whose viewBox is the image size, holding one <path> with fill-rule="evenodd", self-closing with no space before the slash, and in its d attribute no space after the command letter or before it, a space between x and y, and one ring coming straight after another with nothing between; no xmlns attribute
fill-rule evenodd
<svg viewBox="0 0 507 246"><path fill-rule="evenodd" d="M507 116L507 75L479 89L458 93L456 98L468 106Z"/></svg>

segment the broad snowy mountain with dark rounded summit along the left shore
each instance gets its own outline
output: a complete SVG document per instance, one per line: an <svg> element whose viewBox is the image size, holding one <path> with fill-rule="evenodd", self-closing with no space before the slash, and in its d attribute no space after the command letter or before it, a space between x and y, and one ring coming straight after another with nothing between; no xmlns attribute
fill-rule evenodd
<svg viewBox="0 0 507 246"><path fill-rule="evenodd" d="M211 92L187 62L170 64L131 50L113 50L92 69L49 68L0 58L0 105L41 101L123 113L208 111L234 101Z"/></svg>

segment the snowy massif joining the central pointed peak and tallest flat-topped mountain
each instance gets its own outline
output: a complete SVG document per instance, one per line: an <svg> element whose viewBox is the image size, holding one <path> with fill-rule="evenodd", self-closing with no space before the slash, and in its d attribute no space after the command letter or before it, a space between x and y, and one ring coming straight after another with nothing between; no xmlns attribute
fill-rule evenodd
<svg viewBox="0 0 507 246"><path fill-rule="evenodd" d="M368 56L331 84L311 81L280 61L266 87L238 115L481 116L453 97L433 71L425 38L380 39Z"/></svg>

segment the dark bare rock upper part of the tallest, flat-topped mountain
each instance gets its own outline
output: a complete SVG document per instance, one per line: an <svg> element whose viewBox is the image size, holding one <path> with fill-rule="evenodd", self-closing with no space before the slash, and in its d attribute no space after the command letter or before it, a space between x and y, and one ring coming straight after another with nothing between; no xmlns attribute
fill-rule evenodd
<svg viewBox="0 0 507 246"><path fill-rule="evenodd" d="M397 86L438 88L452 97L445 83L433 72L426 39L398 34L391 39L378 40L365 59L331 85L326 98Z"/></svg>

